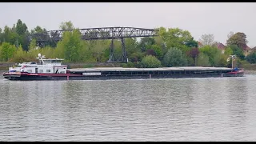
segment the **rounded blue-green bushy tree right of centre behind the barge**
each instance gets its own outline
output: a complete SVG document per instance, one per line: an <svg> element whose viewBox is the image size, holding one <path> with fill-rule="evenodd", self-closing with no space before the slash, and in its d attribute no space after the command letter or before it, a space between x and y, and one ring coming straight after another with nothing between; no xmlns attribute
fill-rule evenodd
<svg viewBox="0 0 256 144"><path fill-rule="evenodd" d="M170 48L163 58L165 66L187 66L187 59L182 50L178 48Z"/></svg>

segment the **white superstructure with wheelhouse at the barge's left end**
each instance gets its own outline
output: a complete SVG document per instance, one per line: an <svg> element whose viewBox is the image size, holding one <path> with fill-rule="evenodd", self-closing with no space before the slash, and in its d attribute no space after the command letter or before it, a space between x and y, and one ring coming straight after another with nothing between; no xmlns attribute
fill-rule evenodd
<svg viewBox="0 0 256 144"><path fill-rule="evenodd" d="M27 72L35 74L66 74L67 66L62 65L64 59L47 58L38 54L37 62L23 62L16 67L9 67L9 72Z"/></svg>

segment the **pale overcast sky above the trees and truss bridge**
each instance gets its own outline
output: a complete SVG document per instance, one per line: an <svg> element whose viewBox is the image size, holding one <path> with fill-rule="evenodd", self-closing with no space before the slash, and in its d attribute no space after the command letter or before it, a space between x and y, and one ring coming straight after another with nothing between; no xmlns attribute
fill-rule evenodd
<svg viewBox="0 0 256 144"><path fill-rule="evenodd" d="M214 34L226 44L227 34L243 32L248 46L256 46L254 2L1 2L0 27L12 27L21 19L29 30L41 26L58 30L71 21L78 28L132 26L178 27L189 30L195 40Z"/></svg>

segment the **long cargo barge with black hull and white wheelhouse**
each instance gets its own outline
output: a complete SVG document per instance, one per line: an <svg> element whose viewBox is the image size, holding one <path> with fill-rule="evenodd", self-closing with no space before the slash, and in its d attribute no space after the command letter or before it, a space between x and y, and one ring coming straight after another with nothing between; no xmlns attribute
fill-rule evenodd
<svg viewBox="0 0 256 144"><path fill-rule="evenodd" d="M23 62L9 68L3 77L9 80L106 80L106 79L146 79L146 78L207 78L242 77L244 70L226 67L162 67L162 68L122 68L95 67L68 69L62 65L63 59L46 59L38 54L37 62Z"/></svg>

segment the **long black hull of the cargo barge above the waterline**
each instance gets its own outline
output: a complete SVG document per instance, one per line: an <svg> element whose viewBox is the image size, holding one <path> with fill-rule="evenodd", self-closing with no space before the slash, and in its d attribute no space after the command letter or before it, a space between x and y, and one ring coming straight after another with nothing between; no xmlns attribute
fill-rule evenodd
<svg viewBox="0 0 256 144"><path fill-rule="evenodd" d="M4 75L4 78L18 81L46 80L108 80L108 79L149 79L149 78L213 78L242 77L243 74L151 74L150 75L100 75L100 76L42 76L42 75Z"/></svg>

